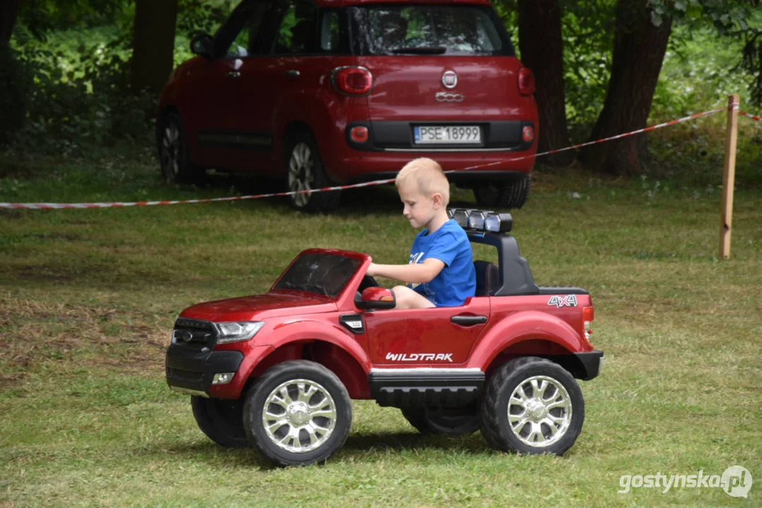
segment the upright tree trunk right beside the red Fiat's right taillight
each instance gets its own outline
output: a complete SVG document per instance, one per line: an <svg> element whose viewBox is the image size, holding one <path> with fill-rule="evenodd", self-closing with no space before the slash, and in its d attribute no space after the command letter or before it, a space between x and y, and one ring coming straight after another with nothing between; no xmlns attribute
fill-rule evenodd
<svg viewBox="0 0 762 508"><path fill-rule="evenodd" d="M561 9L558 0L519 0L519 49L521 61L537 84L535 98L539 113L537 151L562 149L569 143L564 96L564 59L561 38ZM574 152L546 155L543 161L568 166Z"/></svg>

